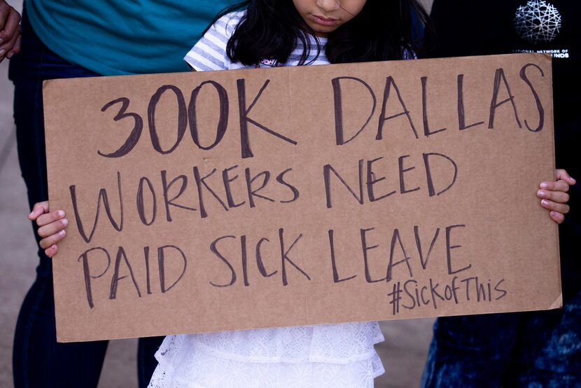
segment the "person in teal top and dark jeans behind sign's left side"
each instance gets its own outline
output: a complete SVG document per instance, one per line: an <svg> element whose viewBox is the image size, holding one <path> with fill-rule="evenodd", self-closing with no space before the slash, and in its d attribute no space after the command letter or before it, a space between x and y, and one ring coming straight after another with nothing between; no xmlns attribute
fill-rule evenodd
<svg viewBox="0 0 581 388"><path fill-rule="evenodd" d="M31 208L48 198L42 81L188 71L183 53L200 38L214 15L233 3L25 0L19 37L18 13L0 0L0 61L5 56L10 59L18 157ZM36 235L36 223L34 228ZM43 249L38 256L36 279L22 303L15 330L15 387L96 387L107 341L56 342L52 264ZM142 387L153 373L153 353L160 342L161 338L139 340Z"/></svg>

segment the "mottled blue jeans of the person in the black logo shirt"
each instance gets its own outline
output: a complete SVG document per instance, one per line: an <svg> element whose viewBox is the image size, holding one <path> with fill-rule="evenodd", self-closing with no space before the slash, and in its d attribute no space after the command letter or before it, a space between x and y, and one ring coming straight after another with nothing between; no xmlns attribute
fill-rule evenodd
<svg viewBox="0 0 581 388"><path fill-rule="evenodd" d="M581 387L579 235L560 230L562 310L437 319L421 387Z"/></svg>

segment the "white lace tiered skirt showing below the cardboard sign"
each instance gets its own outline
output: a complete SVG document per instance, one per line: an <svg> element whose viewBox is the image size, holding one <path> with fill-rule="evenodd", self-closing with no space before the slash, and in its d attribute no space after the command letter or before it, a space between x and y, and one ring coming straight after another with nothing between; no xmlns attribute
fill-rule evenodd
<svg viewBox="0 0 581 388"><path fill-rule="evenodd" d="M149 387L373 387L377 322L169 335Z"/></svg>

